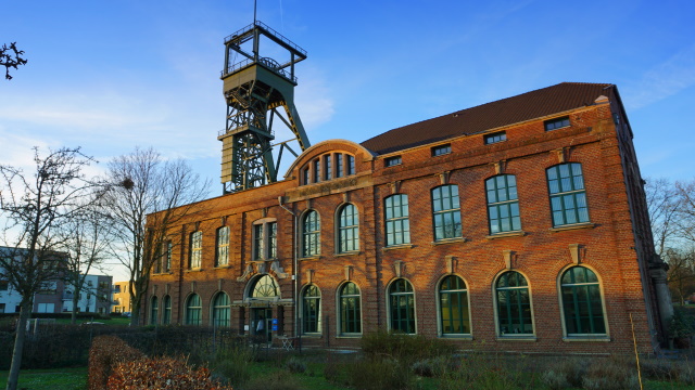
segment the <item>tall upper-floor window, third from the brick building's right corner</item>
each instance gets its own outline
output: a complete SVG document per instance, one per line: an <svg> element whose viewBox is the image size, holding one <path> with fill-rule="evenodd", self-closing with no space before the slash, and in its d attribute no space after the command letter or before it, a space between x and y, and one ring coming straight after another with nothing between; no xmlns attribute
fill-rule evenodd
<svg viewBox="0 0 695 390"><path fill-rule="evenodd" d="M441 185L432 190L434 240L463 237L458 186Z"/></svg>

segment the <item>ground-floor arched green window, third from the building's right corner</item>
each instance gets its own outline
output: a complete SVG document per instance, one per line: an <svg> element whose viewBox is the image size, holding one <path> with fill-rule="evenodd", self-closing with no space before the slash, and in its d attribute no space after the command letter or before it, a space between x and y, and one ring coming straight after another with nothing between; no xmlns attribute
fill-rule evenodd
<svg viewBox="0 0 695 390"><path fill-rule="evenodd" d="M439 284L439 310L442 335L470 334L468 289L466 282L448 275Z"/></svg>

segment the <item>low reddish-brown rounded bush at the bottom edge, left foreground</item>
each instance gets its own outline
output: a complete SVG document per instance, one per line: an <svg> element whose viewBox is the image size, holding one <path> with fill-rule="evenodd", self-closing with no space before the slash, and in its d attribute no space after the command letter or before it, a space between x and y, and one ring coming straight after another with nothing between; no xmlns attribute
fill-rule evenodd
<svg viewBox="0 0 695 390"><path fill-rule="evenodd" d="M124 362L109 377L109 390L231 390L210 377L205 367L192 369L184 359L157 358Z"/></svg>

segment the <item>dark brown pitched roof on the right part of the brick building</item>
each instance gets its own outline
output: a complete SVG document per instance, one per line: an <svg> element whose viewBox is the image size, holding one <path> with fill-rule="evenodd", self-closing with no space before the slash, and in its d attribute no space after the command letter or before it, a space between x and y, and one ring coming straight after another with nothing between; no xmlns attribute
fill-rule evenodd
<svg viewBox="0 0 695 390"><path fill-rule="evenodd" d="M514 125L594 104L608 95L608 83L561 82L520 95L462 109L374 136L362 145L376 154L392 153L459 135Z"/></svg>

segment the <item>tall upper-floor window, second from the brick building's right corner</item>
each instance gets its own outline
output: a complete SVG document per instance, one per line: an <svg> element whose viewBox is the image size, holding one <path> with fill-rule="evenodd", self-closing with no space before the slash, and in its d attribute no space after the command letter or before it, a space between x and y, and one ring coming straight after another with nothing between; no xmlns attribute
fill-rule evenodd
<svg viewBox="0 0 695 390"><path fill-rule="evenodd" d="M485 180L490 234L521 230L517 179L514 174L500 174Z"/></svg>

